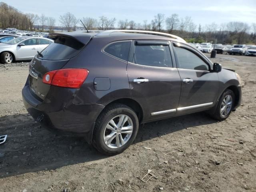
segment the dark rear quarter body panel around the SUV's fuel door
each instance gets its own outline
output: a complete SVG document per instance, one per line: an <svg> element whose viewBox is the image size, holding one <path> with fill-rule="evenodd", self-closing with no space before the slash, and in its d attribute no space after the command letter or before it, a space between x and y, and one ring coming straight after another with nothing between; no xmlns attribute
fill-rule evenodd
<svg viewBox="0 0 256 192"><path fill-rule="evenodd" d="M72 58L64 68L86 68L89 74L77 92L73 102L76 104L96 103L107 105L120 98L130 98L130 86L126 73L127 62L113 58L102 52L111 38L93 38L84 49ZM96 90L95 78L109 78L109 90Z"/></svg>

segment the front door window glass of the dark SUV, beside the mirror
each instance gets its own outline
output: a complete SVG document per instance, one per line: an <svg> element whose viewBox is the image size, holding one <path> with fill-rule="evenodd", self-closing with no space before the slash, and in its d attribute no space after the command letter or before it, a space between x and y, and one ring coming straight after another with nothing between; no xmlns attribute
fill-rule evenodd
<svg viewBox="0 0 256 192"><path fill-rule="evenodd" d="M175 47L175 51L178 56L178 68L204 71L209 70L208 65L196 54L190 52L189 50L180 47Z"/></svg>

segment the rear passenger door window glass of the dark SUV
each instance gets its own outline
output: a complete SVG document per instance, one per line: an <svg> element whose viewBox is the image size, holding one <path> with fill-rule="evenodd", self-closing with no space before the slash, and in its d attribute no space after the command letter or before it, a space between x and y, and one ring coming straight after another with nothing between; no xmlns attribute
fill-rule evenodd
<svg viewBox="0 0 256 192"><path fill-rule="evenodd" d="M172 67L170 48L168 45L137 45L133 63L154 67Z"/></svg>

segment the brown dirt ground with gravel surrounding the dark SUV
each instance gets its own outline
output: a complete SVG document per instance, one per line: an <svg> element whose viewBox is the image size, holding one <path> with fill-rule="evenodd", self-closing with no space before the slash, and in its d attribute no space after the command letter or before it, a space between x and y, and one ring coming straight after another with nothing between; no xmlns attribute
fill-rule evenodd
<svg viewBox="0 0 256 192"><path fill-rule="evenodd" d="M223 122L201 112L144 124L128 150L110 157L83 138L41 128L22 102L28 63L0 64L0 135L8 134L0 145L0 191L255 192L256 57L212 60L242 78L236 112ZM144 183L147 170L154 177Z"/></svg>

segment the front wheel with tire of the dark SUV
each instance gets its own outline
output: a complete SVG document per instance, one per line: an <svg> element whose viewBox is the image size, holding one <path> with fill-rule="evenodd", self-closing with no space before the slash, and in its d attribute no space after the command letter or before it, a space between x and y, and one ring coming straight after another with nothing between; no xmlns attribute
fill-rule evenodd
<svg viewBox="0 0 256 192"><path fill-rule="evenodd" d="M212 118L219 121L223 121L228 118L234 107L234 101L234 92L232 90L226 89L220 96L216 110L214 114L211 115Z"/></svg>

